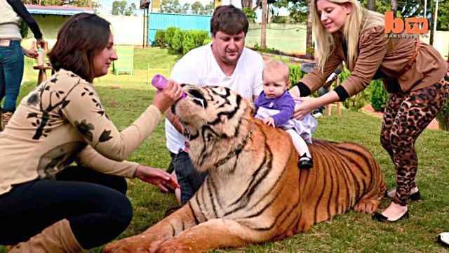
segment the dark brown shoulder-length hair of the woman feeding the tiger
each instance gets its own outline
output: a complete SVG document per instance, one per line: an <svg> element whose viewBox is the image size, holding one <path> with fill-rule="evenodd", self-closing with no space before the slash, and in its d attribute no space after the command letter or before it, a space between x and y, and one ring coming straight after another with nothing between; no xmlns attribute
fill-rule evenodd
<svg viewBox="0 0 449 253"><path fill-rule="evenodd" d="M48 53L51 65L92 82L93 57L107 46L111 23L98 15L79 13L70 17L58 32L58 40Z"/></svg>

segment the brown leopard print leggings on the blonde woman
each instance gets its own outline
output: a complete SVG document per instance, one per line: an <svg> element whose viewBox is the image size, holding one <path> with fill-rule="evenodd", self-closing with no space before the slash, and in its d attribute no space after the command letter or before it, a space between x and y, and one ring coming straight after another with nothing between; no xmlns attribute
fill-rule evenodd
<svg viewBox="0 0 449 253"><path fill-rule="evenodd" d="M436 117L448 97L449 82L442 79L427 88L392 93L387 100L380 142L396 167L394 202L398 205L407 205L410 190L415 187L416 138Z"/></svg>

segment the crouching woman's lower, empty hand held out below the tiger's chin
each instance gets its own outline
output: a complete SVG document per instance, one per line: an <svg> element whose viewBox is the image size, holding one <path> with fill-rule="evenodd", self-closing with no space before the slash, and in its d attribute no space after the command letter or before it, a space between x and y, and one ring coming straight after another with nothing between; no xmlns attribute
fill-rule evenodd
<svg viewBox="0 0 449 253"><path fill-rule="evenodd" d="M174 176L168 174L163 169L156 169L152 167L146 167L139 165L135 170L134 177L146 182L151 183L154 186L159 187L164 192L168 192L168 188L175 190L180 188Z"/></svg>

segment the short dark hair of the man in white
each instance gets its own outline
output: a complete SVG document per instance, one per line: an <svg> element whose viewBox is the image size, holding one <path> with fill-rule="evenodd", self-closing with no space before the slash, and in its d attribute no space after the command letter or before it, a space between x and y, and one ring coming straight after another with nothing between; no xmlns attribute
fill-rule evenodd
<svg viewBox="0 0 449 253"><path fill-rule="evenodd" d="M248 25L248 18L241 9L232 4L218 6L210 20L210 33L215 35L217 32L224 32L225 34L245 32L246 35Z"/></svg>

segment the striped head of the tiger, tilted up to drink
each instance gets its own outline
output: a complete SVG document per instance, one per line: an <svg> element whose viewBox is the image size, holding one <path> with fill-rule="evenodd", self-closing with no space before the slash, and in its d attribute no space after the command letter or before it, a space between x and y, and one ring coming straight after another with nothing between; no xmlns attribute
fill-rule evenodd
<svg viewBox="0 0 449 253"><path fill-rule="evenodd" d="M241 143L253 126L255 108L238 93L222 86L185 84L186 98L172 108L189 138L189 155L199 170L207 170L206 157L217 160Z"/></svg>

